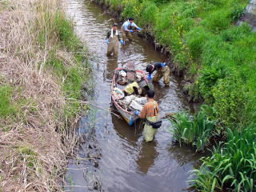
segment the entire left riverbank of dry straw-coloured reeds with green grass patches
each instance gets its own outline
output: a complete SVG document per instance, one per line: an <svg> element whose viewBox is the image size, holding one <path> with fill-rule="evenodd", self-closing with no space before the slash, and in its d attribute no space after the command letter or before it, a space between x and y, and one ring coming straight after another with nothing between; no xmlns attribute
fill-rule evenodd
<svg viewBox="0 0 256 192"><path fill-rule="evenodd" d="M0 0L0 191L62 191L85 53L59 0Z"/></svg>

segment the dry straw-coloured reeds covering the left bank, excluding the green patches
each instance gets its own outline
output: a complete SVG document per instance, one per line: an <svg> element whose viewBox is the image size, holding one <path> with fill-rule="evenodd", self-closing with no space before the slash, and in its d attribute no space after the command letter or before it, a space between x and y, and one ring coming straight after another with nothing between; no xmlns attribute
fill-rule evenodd
<svg viewBox="0 0 256 192"><path fill-rule="evenodd" d="M11 86L11 102L18 103L16 114L0 119L0 191L61 191L58 181L76 143L78 118L66 119L62 85L43 67L56 38L38 46L39 28L47 22L42 15L60 4L0 0L0 7L0 86ZM58 56L73 65L72 54L59 50Z"/></svg>

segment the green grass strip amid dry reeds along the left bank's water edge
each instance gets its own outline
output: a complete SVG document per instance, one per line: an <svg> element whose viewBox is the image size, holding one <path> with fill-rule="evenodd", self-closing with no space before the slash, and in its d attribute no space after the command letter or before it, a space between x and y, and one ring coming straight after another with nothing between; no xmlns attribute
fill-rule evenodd
<svg viewBox="0 0 256 192"><path fill-rule="evenodd" d="M47 18L47 14L45 15ZM50 22L54 30L49 36L58 38L57 46L53 47L46 61L46 69L50 70L62 85L62 90L66 95L66 115L68 118L79 114L81 104L77 100L82 99L82 86L86 84L89 78L90 65L86 60L86 47L81 45L78 36L74 32L72 22L66 20L63 13L55 13L53 21ZM47 37L45 37L47 38ZM50 38L50 37L48 37ZM45 42L44 40L43 42ZM66 59L58 54L59 47L74 52L73 66L66 65Z"/></svg>

